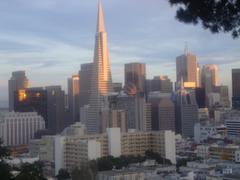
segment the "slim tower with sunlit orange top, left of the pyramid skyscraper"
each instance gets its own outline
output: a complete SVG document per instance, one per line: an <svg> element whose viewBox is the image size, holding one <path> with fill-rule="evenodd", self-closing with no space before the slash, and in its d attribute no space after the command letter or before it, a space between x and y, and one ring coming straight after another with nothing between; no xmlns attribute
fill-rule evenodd
<svg viewBox="0 0 240 180"><path fill-rule="evenodd" d="M79 75L73 75L68 79L68 106L70 111L70 124L80 120L79 111Z"/></svg>

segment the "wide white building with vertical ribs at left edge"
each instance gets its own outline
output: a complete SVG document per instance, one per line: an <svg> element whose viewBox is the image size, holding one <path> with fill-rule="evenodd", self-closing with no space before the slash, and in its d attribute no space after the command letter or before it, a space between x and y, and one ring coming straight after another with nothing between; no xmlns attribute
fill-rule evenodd
<svg viewBox="0 0 240 180"><path fill-rule="evenodd" d="M36 112L0 114L0 138L5 146L29 144L41 129L45 129L45 121Z"/></svg>

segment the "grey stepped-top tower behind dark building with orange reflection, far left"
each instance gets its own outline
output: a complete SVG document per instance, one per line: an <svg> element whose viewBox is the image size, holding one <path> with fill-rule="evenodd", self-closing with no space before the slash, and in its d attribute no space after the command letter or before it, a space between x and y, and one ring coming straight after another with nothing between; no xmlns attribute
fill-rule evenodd
<svg viewBox="0 0 240 180"><path fill-rule="evenodd" d="M9 98L9 111L14 109L14 93L19 89L28 87L28 79L25 71L15 71L12 73L11 79L8 81L8 98Z"/></svg>

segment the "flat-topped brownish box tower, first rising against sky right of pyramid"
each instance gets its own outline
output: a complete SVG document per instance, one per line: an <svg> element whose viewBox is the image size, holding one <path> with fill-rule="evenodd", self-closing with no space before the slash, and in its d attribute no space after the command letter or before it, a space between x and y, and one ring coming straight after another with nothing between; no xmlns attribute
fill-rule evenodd
<svg viewBox="0 0 240 180"><path fill-rule="evenodd" d="M125 86L134 84L138 93L145 92L146 66L142 63L125 64Z"/></svg>

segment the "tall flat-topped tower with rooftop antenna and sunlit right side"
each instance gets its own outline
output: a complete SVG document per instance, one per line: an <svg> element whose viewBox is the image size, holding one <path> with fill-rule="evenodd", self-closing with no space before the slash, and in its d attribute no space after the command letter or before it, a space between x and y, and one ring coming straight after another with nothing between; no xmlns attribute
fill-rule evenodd
<svg viewBox="0 0 240 180"><path fill-rule="evenodd" d="M184 83L191 83L191 86L197 87L197 57L193 54L185 53L176 59L176 77L177 82L183 79Z"/></svg>

